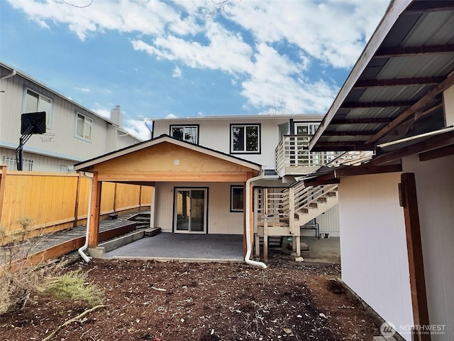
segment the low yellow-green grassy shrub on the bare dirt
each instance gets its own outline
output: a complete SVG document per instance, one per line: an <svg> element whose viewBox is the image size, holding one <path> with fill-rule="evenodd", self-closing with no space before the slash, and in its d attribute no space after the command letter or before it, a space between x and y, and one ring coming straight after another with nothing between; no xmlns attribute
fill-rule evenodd
<svg viewBox="0 0 454 341"><path fill-rule="evenodd" d="M87 274L81 271L70 271L49 281L45 293L62 301L84 301L89 307L102 303L103 292L87 282Z"/></svg>

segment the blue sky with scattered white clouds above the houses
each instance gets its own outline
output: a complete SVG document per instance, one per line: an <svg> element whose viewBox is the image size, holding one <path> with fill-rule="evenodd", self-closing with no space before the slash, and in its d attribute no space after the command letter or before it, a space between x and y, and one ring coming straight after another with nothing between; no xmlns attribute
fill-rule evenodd
<svg viewBox="0 0 454 341"><path fill-rule="evenodd" d="M0 0L0 60L124 128L326 114L389 0Z"/></svg>

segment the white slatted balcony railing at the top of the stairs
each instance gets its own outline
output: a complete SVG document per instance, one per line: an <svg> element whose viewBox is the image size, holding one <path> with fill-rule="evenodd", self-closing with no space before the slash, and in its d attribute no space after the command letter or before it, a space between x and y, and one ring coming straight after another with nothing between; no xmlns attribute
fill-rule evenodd
<svg viewBox="0 0 454 341"><path fill-rule="evenodd" d="M309 152L311 135L284 135L275 149L275 169L279 175L304 172L311 173L335 159L333 151Z"/></svg>

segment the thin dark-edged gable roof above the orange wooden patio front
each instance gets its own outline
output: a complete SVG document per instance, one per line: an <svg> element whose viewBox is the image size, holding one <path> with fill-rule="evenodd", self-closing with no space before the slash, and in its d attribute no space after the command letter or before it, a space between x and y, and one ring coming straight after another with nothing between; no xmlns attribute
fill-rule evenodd
<svg viewBox="0 0 454 341"><path fill-rule="evenodd" d="M89 171L93 166L95 166L99 163L109 161L114 158L118 158L123 155L126 155L128 153L140 151L142 149L145 149L145 148L148 148L151 146L156 146L157 144L162 144L162 143L166 143L166 142L169 144L173 144L175 146L181 146L183 148L188 148L192 151L197 151L199 153L203 153L208 156L214 156L214 157L220 158L221 160L224 160L224 161L236 163L237 165L251 168L255 171L262 170L262 166L259 165L258 163L246 161L243 158L238 158L236 156L231 156L226 153L221 153L221 152L215 151L214 149L211 149L211 148L206 148L203 146L198 146L196 144L191 144L187 141L181 141L181 140L175 139L167 134L162 134L161 136L158 136L155 139L150 139L148 141L139 142L138 144L133 144L132 146L128 146L126 148L119 149L118 151L112 151L111 153L106 153L104 155L97 156L96 158L92 158L87 161L82 161L80 163L76 163L74 165L74 170L75 171Z"/></svg>

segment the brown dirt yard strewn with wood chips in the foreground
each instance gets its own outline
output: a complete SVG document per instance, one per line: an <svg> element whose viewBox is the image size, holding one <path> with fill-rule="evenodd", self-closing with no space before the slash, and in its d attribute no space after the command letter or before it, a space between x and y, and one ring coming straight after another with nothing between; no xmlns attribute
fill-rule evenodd
<svg viewBox="0 0 454 341"><path fill-rule="evenodd" d="M104 290L105 308L52 340L372 340L380 322L338 281L338 265L271 254L268 269L245 264L79 261ZM86 310L35 296L0 316L0 340L43 340Z"/></svg>

